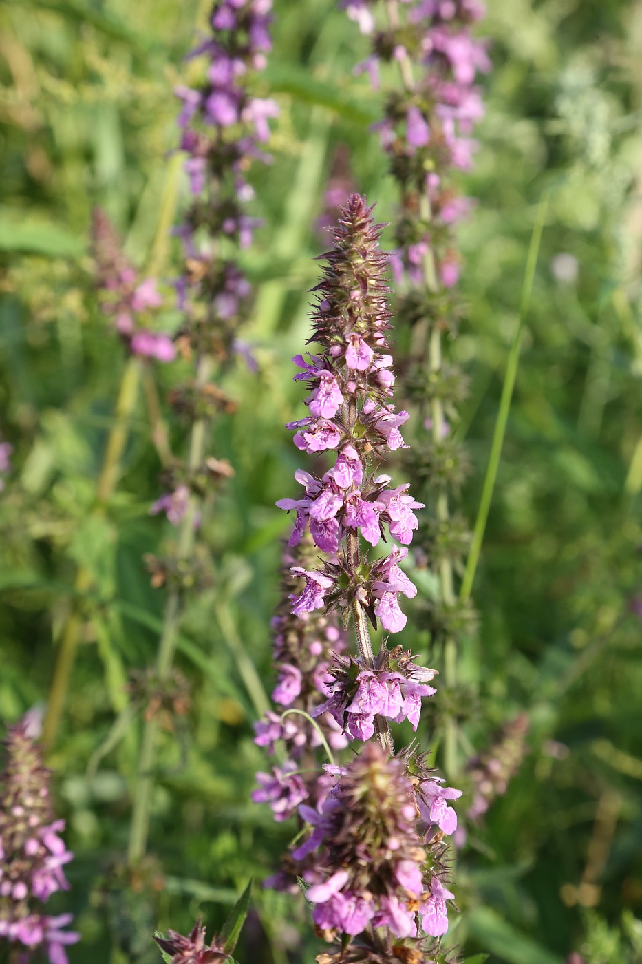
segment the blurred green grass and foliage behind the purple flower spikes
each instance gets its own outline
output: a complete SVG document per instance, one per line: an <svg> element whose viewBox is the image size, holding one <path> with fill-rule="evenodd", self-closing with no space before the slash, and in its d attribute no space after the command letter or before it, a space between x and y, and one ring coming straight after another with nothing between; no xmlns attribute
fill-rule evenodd
<svg viewBox="0 0 642 964"><path fill-rule="evenodd" d="M149 586L143 557L173 533L148 506L161 491L163 425L174 450L184 442L165 398L185 372L147 368L116 493L96 512L126 360L97 307L89 227L100 204L126 254L165 282L163 322L175 328L178 252L166 227L186 190L172 92L196 69L183 57L205 13L196 0L0 5L0 433L14 446L0 496L0 717L46 701L85 567L93 588L75 602L82 646L50 754L76 854L72 890L54 908L77 915L72 962L155 960L153 929L184 931L199 914L217 929L291 836L250 803L254 770L267 763L252 723L272 680L287 528L274 502L291 494L298 464L282 428L300 412L289 359L307 337L310 259L325 247L314 225L337 152L381 220L395 215L368 129L379 98L352 75L366 40L329 0L276 0L260 83L281 117L273 163L254 172L263 227L243 254L256 286L244 336L258 371L235 363L226 388L236 412L212 428L212 451L236 475L203 522L215 579L179 643L193 701L163 748L155 856L132 877L122 854L140 720L125 683L150 664L158 638L162 591ZM433 737L446 709L460 716L471 754L517 713L530 720L518 775L468 828L452 942L507 964L562 964L572 951L589 964L639 964L642 4L490 0L482 27L494 69L475 168L462 178L476 202L459 232L466 310L453 346L471 386L457 427L473 467L463 496L471 521L535 211L545 192L549 202L473 588L479 629L462 647L462 690L440 693L421 734L439 762ZM430 663L422 611L418 599L405 640ZM115 720L122 738L105 744ZM317 944L301 897L254 889L240 960L308 962Z"/></svg>

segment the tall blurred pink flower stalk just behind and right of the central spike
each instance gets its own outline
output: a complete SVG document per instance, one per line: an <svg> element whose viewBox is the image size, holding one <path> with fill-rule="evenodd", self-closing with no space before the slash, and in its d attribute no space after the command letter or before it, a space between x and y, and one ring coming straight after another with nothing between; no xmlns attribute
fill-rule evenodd
<svg viewBox="0 0 642 964"><path fill-rule="evenodd" d="M444 353L460 313L452 292L459 278L453 227L470 202L459 195L452 175L471 166L472 128L483 116L475 81L490 62L471 26L484 7L479 0L343 0L341 6L372 37L371 55L359 68L376 87L382 64L396 64L399 74L399 87L388 91L385 116L376 127L400 192L391 263L402 291L397 315L412 332L404 390L430 434L428 444L421 440L419 456L409 460L409 471L427 482L430 492L433 520L425 548L440 585L433 638L443 644L444 683L452 690L457 638L470 619L468 594L458 598L455 579L468 550L468 526L451 509L467 470L454 439L466 381ZM451 716L444 736L445 766L452 775L458 762Z"/></svg>

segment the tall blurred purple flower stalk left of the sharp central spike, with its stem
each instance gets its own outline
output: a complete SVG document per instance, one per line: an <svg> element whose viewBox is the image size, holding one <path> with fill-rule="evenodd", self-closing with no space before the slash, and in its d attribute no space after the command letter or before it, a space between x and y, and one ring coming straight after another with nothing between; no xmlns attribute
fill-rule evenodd
<svg viewBox="0 0 642 964"><path fill-rule="evenodd" d="M176 282L183 324L175 344L194 363L194 378L174 391L177 411L190 422L187 459L169 472L168 491L151 507L164 511L178 528L174 559L154 563L156 584L167 582L167 598L155 666L161 687L173 672L185 592L194 584L193 555L205 496L212 482L232 474L223 460L206 458L207 429L213 415L233 408L212 381L215 371L242 351L236 333L250 295L250 284L234 255L252 242L256 220L245 211L253 189L246 172L254 159L269 157L261 145L269 138L274 101L251 94L252 78L266 64L271 48L271 0L221 0L209 13L209 36L190 57L202 59L204 78L180 87L179 147L186 154L192 203L176 228L184 248L183 271ZM158 721L147 714L129 837L131 864L147 848L153 793Z"/></svg>

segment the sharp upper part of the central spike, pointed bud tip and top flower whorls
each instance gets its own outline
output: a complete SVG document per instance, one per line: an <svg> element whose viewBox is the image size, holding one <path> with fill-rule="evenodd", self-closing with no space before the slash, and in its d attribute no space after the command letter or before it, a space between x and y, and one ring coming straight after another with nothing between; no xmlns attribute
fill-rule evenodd
<svg viewBox="0 0 642 964"><path fill-rule="evenodd" d="M402 549L392 549L388 559L358 567L347 549L351 535L376 547L385 530L404 546L417 527L415 509L422 508L409 495L408 485L392 487L389 475L377 466L389 451L405 446L400 426L407 412L396 412L392 398L394 376L386 332L388 286L384 279L386 255L379 251L382 226L373 224L372 209L353 195L334 231L334 248L323 278L314 289L317 302L312 315L314 333L322 353L294 358L303 369L294 376L309 391L305 418L290 422L295 445L311 454L335 453L334 466L320 478L299 469L295 478L304 492L299 498L282 498L277 505L296 511L289 545L296 546L309 529L318 549L338 553L335 564L324 571L299 567L303 591L292 594L292 611L303 616L328 602L343 607L359 601L373 624L396 632L405 625L398 596L415 595L415 586L399 567ZM346 549L340 553L339 547Z"/></svg>

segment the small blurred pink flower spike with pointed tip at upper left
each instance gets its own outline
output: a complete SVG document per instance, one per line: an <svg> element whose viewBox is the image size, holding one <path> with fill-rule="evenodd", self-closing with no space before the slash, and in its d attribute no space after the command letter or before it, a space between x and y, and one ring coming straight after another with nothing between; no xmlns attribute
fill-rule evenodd
<svg viewBox="0 0 642 964"><path fill-rule="evenodd" d="M171 336L147 327L153 311L163 304L156 281L139 277L122 254L118 235L99 207L93 212L92 240L102 310L114 316L116 330L133 355L172 362L175 349Z"/></svg>

